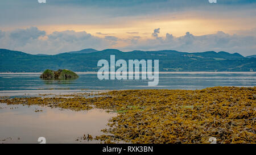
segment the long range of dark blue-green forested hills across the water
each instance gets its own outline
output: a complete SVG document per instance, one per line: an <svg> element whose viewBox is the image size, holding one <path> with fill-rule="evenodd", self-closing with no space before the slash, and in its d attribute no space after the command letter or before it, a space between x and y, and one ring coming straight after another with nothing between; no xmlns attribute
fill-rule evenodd
<svg viewBox="0 0 256 155"><path fill-rule="evenodd" d="M97 62L110 55L115 59L159 60L160 72L250 72L256 70L256 58L246 58L228 52L131 51L105 49L92 53L61 53L59 55L30 55L0 49L0 72L43 72L66 68L75 72L97 72Z"/></svg>

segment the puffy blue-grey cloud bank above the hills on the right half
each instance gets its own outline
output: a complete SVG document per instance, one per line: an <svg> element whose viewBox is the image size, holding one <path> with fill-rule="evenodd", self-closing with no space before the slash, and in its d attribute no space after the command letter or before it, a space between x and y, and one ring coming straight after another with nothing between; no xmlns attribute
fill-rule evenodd
<svg viewBox="0 0 256 155"><path fill-rule="evenodd" d="M183 52L204 52L204 51L226 51L230 53L240 53L241 55L255 55L256 35L230 35L219 31L209 35L195 36L190 32L180 37L175 37L171 33L166 33L165 37L158 37L158 29L154 39L130 40L126 47L120 48L125 51L144 50L158 51L171 49ZM126 41L128 43L128 41Z"/></svg>

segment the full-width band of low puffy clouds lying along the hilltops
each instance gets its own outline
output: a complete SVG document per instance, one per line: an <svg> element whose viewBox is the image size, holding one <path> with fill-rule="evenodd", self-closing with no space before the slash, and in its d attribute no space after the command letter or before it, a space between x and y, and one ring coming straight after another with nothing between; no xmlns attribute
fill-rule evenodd
<svg viewBox="0 0 256 155"><path fill-rule="evenodd" d="M254 32L256 29L251 30ZM84 48L98 50L117 48L121 51L158 51L164 49L183 52L226 51L238 52L241 55L255 55L256 35L241 32L230 35L222 31L213 34L195 36L190 32L176 37L171 33L159 37L160 28L154 30L152 38L130 36L121 39L115 36L97 37L86 31L61 31L46 34L36 27L17 29L14 31L0 30L0 48L23 51L26 53L44 53L54 55L60 52L79 51Z"/></svg>

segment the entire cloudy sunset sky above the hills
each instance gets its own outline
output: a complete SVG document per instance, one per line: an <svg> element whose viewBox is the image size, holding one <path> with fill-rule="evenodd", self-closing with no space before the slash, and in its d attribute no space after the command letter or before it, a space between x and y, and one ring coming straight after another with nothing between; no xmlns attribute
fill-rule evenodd
<svg viewBox="0 0 256 155"><path fill-rule="evenodd" d="M256 0L1 0L0 48L256 55Z"/></svg>

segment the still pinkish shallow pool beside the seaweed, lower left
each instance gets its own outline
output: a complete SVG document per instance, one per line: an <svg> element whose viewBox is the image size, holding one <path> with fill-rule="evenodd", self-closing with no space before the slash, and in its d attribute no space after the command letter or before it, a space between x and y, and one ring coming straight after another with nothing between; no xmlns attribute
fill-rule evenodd
<svg viewBox="0 0 256 155"><path fill-rule="evenodd" d="M43 110L35 112L35 110ZM88 133L102 135L108 120L114 116L103 110L71 111L41 106L0 104L0 144L38 143L45 137L46 143L100 143L76 141Z"/></svg>

